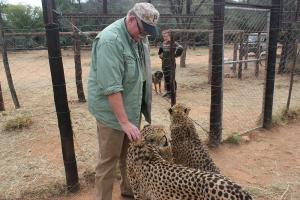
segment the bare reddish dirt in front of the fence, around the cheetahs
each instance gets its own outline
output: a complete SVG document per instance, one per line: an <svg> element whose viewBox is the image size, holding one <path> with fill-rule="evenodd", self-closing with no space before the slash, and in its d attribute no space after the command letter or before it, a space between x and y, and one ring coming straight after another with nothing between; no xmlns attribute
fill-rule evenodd
<svg viewBox="0 0 300 200"><path fill-rule="evenodd" d="M245 144L222 144L210 151L222 173L257 200L300 199L300 121L248 136L250 141ZM56 200L85 199L93 199L92 189ZM113 200L121 199L116 182Z"/></svg>

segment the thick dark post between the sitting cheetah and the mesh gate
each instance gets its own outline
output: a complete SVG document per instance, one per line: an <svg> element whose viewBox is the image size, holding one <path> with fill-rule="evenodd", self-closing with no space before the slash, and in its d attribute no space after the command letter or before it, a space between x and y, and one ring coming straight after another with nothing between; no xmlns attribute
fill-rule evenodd
<svg viewBox="0 0 300 200"><path fill-rule="evenodd" d="M225 0L214 0L209 134L209 145L212 147L218 146L222 140L224 9Z"/></svg>

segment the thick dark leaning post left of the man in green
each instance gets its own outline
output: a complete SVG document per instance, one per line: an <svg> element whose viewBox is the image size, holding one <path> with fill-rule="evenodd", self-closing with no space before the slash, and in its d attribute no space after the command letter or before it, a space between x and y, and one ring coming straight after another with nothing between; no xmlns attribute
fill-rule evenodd
<svg viewBox="0 0 300 200"><path fill-rule="evenodd" d="M70 192L76 192L79 190L78 172L73 142L73 129L59 43L59 23L56 13L53 12L53 10L55 10L54 0L42 0L42 5L67 189Z"/></svg>

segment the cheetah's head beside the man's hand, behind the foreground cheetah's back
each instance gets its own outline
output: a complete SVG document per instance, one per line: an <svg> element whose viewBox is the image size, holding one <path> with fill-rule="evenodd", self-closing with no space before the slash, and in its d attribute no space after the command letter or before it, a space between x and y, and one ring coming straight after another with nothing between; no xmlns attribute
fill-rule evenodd
<svg viewBox="0 0 300 200"><path fill-rule="evenodd" d="M159 154L167 161L173 162L172 150L167 133L162 125L145 125L141 130L145 141L156 146Z"/></svg>

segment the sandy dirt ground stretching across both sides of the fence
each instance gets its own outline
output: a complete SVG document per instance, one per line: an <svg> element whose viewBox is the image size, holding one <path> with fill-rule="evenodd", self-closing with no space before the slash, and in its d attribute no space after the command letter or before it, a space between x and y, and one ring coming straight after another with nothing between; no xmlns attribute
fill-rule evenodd
<svg viewBox="0 0 300 200"><path fill-rule="evenodd" d="M159 70L161 63L156 52L157 49L152 49L153 71ZM4 180L0 181L0 199L53 199L53 196L61 196L64 191L65 172L47 51L9 52L8 56L21 109L14 109L1 67L0 81L6 111L0 113L0 180ZM226 47L225 59L231 57L232 49ZM88 184L85 177L94 171L97 160L96 123L87 111L87 104L77 101L73 52L64 50L62 58L78 173L84 191L87 190L87 193L80 195L87 195L88 199L91 190L85 187ZM90 52L83 51L81 58L87 95ZM205 140L210 114L208 49L189 50L186 63L186 68L177 66L176 70L177 102L191 107L191 117ZM243 133L261 125L264 63L258 78L253 75L254 65L243 71L243 80L230 73L229 65L225 65L224 74L230 75L230 78L224 78L223 139L226 139L232 133ZM288 75L276 77L274 113L285 107L288 85ZM153 124L163 124L168 129L169 106L170 102L153 92ZM291 109L297 106L300 106L299 76L295 77ZM6 123L17 116L29 116L33 123L21 130L4 130ZM280 199L285 191L285 199L297 199L300 181L299 132L298 122L274 129L270 132L272 134L254 134L251 142L242 146L222 145L212 154L225 175L248 187L253 194L261 195L261 199ZM117 191L115 193L118 195Z"/></svg>

